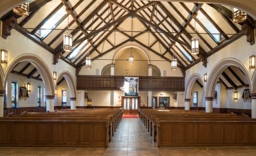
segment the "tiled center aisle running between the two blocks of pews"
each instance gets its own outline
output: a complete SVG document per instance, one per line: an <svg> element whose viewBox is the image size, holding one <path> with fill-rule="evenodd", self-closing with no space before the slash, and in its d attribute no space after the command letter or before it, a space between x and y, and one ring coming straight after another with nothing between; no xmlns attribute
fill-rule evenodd
<svg viewBox="0 0 256 156"><path fill-rule="evenodd" d="M104 155L161 155L139 119L123 119Z"/></svg>

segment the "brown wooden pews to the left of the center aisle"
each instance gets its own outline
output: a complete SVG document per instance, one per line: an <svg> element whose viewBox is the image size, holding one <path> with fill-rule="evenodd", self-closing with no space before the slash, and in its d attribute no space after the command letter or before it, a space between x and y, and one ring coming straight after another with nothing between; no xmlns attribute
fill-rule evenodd
<svg viewBox="0 0 256 156"><path fill-rule="evenodd" d="M0 118L0 146L108 147L123 109L10 113Z"/></svg>

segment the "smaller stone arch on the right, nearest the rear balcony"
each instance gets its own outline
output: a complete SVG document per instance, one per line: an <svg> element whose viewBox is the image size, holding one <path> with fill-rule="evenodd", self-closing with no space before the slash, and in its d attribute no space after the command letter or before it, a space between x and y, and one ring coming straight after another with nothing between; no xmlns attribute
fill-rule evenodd
<svg viewBox="0 0 256 156"><path fill-rule="evenodd" d="M191 90L192 90L193 85L194 85L196 80L198 80L201 84L204 84L200 74L193 73L192 75L190 75L190 77L189 77L189 79L187 81L188 83L187 83L187 85L185 87L185 96L184 96L185 99L190 99Z"/></svg>

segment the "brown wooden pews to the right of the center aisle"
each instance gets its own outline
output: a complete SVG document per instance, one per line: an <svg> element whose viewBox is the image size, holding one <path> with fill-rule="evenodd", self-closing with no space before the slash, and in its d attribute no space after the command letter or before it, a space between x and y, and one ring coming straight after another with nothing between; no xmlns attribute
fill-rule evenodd
<svg viewBox="0 0 256 156"><path fill-rule="evenodd" d="M162 146L255 146L256 121L247 115L139 109L148 133Z"/></svg>

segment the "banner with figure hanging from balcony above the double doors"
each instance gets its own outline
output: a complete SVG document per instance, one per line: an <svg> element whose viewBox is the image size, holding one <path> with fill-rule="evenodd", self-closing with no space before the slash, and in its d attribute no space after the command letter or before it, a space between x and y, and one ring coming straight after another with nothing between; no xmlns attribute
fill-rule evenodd
<svg viewBox="0 0 256 156"><path fill-rule="evenodd" d="M124 77L124 96L138 96L138 77Z"/></svg>

